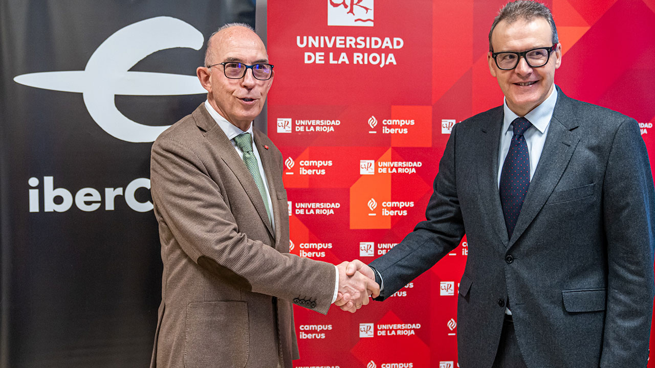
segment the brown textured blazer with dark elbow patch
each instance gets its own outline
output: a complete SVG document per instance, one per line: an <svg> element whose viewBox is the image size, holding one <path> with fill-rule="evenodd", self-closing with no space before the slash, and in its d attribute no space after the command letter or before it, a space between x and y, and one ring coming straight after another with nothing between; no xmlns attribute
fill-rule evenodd
<svg viewBox="0 0 655 368"><path fill-rule="evenodd" d="M291 301L329 309L334 266L288 253L282 154L257 130L254 141L274 230L252 175L204 104L153 144L164 270L151 368L291 368Z"/></svg>

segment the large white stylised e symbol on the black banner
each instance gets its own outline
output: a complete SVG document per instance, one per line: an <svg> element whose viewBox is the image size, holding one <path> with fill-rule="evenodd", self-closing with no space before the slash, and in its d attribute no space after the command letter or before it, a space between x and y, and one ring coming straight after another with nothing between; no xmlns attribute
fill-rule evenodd
<svg viewBox="0 0 655 368"><path fill-rule="evenodd" d="M168 126L149 126L117 109L116 95L175 96L202 94L195 75L129 71L146 56L166 48L200 50L202 33L168 16L141 20L109 36L91 55L84 70L45 71L18 75L16 83L81 93L92 119L111 136L128 142L151 142Z"/></svg>

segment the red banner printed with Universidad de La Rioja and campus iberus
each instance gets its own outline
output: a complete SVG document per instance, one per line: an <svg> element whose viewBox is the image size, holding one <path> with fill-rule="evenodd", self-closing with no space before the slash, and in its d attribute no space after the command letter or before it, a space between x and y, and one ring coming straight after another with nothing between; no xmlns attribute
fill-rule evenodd
<svg viewBox="0 0 655 368"><path fill-rule="evenodd" d="M563 46L555 83L637 119L654 166L655 0L545 3ZM284 155L292 253L369 263L424 219L453 124L502 103L487 65L502 5L268 3L268 134ZM467 250L464 238L394 297L356 314L296 307L295 367L457 367Z"/></svg>

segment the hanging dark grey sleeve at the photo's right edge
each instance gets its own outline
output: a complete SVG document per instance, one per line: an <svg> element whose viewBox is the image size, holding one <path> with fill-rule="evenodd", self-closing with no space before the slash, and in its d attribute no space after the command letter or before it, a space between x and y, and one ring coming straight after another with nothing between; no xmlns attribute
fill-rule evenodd
<svg viewBox="0 0 655 368"><path fill-rule="evenodd" d="M603 183L607 315L601 367L646 367L652 318L655 194L637 122L619 126Z"/></svg>

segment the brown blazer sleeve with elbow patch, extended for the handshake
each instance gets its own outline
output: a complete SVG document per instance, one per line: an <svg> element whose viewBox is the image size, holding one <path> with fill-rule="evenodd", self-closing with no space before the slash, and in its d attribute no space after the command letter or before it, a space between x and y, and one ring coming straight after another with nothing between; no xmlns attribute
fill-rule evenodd
<svg viewBox="0 0 655 368"><path fill-rule="evenodd" d="M221 186L207 172L200 157L179 141L155 141L151 193L158 220L172 234L168 241L177 242L193 261L229 284L301 299L301 306L327 314L337 280L333 265L280 253L240 232ZM232 206L241 199L234 198Z"/></svg>

